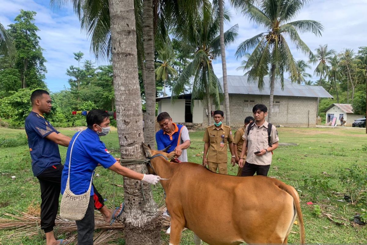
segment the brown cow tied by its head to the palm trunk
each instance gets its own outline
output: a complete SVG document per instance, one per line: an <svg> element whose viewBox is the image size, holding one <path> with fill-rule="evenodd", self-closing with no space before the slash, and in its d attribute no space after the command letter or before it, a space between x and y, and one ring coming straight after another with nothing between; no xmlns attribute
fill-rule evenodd
<svg viewBox="0 0 367 245"><path fill-rule="evenodd" d="M174 152L143 147L151 159L149 173L168 179L160 182L171 215L170 245L179 245L184 227L211 245L286 244L296 216L305 243L299 196L290 185L265 176L212 173L192 162L172 163L167 159Z"/></svg>

